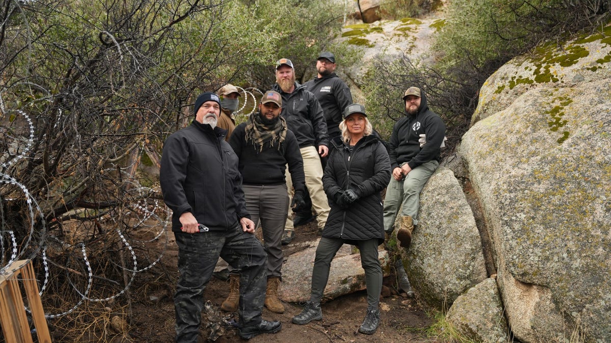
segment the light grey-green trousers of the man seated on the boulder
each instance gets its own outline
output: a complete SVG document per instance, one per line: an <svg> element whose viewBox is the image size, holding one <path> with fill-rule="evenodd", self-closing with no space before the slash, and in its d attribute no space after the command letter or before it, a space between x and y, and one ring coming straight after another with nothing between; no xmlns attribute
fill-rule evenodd
<svg viewBox="0 0 611 343"><path fill-rule="evenodd" d="M401 203L401 215L410 215L414 225L418 225L420 192L437 167L439 162L428 161L412 169L403 180L397 181L390 176L384 197L384 231L392 232Z"/></svg>

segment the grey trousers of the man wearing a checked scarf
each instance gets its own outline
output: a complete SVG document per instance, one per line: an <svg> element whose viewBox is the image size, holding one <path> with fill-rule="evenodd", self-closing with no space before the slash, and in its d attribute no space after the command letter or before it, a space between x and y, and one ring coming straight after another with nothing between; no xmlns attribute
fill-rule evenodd
<svg viewBox="0 0 611 343"><path fill-rule="evenodd" d="M261 220L263 244L268 254L268 278L281 277L282 234L287 222L288 193L287 185L251 186L243 185L246 197L246 209L255 222L255 228Z"/></svg>

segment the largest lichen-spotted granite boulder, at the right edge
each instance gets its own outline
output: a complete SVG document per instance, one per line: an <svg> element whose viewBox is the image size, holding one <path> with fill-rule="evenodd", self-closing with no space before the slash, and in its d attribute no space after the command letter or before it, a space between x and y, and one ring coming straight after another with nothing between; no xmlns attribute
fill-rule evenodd
<svg viewBox="0 0 611 343"><path fill-rule="evenodd" d="M602 34L511 60L458 149L521 342L611 341L610 61Z"/></svg>

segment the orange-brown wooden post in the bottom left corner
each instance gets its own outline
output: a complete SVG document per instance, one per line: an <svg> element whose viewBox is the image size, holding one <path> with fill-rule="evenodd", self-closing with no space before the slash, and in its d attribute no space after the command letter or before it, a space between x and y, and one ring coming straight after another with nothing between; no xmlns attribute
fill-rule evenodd
<svg viewBox="0 0 611 343"><path fill-rule="evenodd" d="M31 260L15 261L6 270L9 270L8 274L0 274L0 323L4 338L8 343L32 342L23 295L19 287L18 276L21 274L21 283L26 291L27 304L32 311L38 342L51 343Z"/></svg>

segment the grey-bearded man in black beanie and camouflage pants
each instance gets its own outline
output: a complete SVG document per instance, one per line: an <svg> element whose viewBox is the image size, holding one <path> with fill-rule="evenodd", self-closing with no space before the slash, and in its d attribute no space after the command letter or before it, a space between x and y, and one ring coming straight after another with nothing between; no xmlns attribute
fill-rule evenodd
<svg viewBox="0 0 611 343"><path fill-rule="evenodd" d="M191 125L171 134L163 147L159 181L172 209L180 278L174 294L176 341L197 342L203 291L219 256L240 270L238 334L250 339L276 333L280 322L263 320L267 255L246 211L238 157L216 127L219 96L207 92L194 106Z"/></svg>

